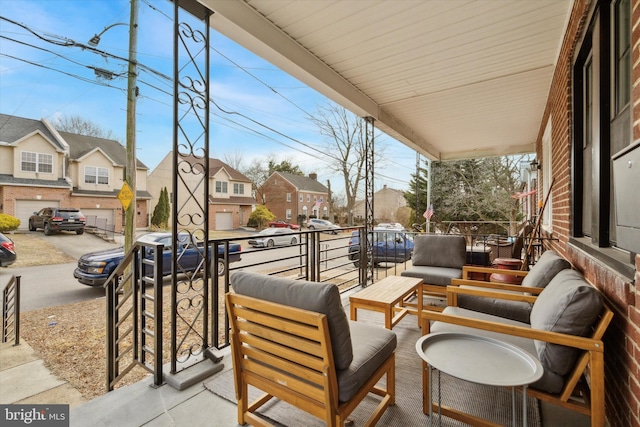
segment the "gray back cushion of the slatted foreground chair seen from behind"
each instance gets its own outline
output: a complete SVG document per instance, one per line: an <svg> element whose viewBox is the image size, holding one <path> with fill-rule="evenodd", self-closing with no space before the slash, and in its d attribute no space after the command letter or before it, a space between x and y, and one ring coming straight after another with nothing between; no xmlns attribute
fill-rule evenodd
<svg viewBox="0 0 640 427"><path fill-rule="evenodd" d="M233 273L230 282L237 294L325 314L329 324L336 369L347 369L351 365L353 348L349 320L342 307L340 292L336 285L246 271Z"/></svg>

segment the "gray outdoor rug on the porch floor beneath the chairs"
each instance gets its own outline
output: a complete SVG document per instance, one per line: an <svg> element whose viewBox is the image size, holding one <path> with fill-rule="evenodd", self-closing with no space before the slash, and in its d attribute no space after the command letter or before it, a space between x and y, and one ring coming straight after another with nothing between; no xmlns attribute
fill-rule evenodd
<svg viewBox="0 0 640 427"><path fill-rule="evenodd" d="M380 313L365 310L358 311L358 321L383 325ZM415 350L415 343L420 338L420 329L415 316L406 316L393 328L398 336L396 348L396 404L389 407L378 422L380 426L425 426L429 416L422 412L422 359ZM229 356L230 357L230 356ZM469 355L469 363L473 363L473 355ZM434 372L435 374L435 372ZM383 379L384 381L384 379ZM233 370L227 370L204 383L205 388L216 395L236 403L233 383ZM479 416L502 425L512 424L511 389L473 384L442 374L442 403L460 409L469 414ZM262 392L249 387L250 401ZM434 397L437 396L437 377L434 377ZM371 415L379 398L367 396L349 417L354 427L362 426ZM540 426L540 410L538 401L528 397L528 425ZM522 425L522 395L516 393L516 414L518 425ZM277 399L268 402L258 414L269 422L287 427L315 427L325 423L286 402ZM435 415L437 417L437 415ZM434 420L437 422L437 418ZM462 426L461 422L443 417L443 426Z"/></svg>

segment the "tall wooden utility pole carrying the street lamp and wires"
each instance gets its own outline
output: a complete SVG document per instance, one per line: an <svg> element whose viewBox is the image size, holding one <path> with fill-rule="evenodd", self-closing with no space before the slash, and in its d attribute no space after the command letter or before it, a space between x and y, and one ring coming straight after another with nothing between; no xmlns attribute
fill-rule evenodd
<svg viewBox="0 0 640 427"><path fill-rule="evenodd" d="M136 198L136 98L138 96L138 0L131 0L131 18L129 20L129 67L127 78L127 164L125 168L125 182L131 187L133 198L125 211L124 249L125 253L133 246L136 236L136 213L138 211Z"/></svg>

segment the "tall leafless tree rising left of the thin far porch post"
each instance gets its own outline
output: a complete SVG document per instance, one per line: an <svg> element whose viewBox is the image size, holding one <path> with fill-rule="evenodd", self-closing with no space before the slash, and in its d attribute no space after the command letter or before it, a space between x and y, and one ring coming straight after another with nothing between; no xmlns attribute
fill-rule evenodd
<svg viewBox="0 0 640 427"><path fill-rule="evenodd" d="M344 180L347 212L356 204L360 184L365 178L366 129L361 118L336 104L320 106L309 120L325 138L324 152L329 170L339 173ZM374 162L381 161L384 146L376 141Z"/></svg>

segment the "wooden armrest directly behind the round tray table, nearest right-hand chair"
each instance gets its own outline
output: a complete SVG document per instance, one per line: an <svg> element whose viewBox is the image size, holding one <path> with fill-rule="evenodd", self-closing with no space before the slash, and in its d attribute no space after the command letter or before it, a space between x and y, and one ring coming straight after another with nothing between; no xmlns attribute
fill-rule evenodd
<svg viewBox="0 0 640 427"><path fill-rule="evenodd" d="M429 333L430 321L437 321L451 323L454 325L467 326L470 328L482 329L485 331L497 332L506 335L545 341L548 343L564 345L580 350L596 351L601 353L604 352L604 344L602 343L602 341L593 338L578 337L575 335L525 328L522 326L505 325L498 322L472 319L470 317L456 316L430 310L423 310L421 318L423 334Z"/></svg>

